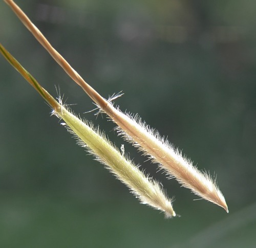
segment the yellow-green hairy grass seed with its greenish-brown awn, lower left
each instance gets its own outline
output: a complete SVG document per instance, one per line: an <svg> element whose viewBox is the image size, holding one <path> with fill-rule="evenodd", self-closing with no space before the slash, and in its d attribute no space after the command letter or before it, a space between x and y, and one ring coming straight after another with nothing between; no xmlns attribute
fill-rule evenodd
<svg viewBox="0 0 256 248"><path fill-rule="evenodd" d="M56 101L41 85L28 73L13 56L0 44L0 52L10 64L36 89L52 107L53 115L65 121L68 130L75 134L78 144L87 150L108 168L140 199L155 209L164 212L167 218L175 216L172 200L168 199L160 185L142 173L131 160L114 147L104 134L95 130L92 124L80 120L62 104L61 99Z"/></svg>

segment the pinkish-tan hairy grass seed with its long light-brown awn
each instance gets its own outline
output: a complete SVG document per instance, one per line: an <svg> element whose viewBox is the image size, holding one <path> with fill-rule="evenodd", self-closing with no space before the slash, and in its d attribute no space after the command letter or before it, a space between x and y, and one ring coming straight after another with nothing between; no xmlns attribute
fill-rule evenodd
<svg viewBox="0 0 256 248"><path fill-rule="evenodd" d="M201 198L219 205L228 212L224 196L217 187L215 180L208 173L199 171L177 149L174 149L173 145L162 139L158 132L153 131L148 125L141 122L140 119L125 115L118 108L115 108L111 102L101 97L51 46L44 35L41 34L26 14L13 1L5 0L5 2L62 69L82 87L101 111L105 112L119 126L118 132L122 134L125 140L143 151L153 162L159 164L167 174L175 177L182 186L190 189Z"/></svg>

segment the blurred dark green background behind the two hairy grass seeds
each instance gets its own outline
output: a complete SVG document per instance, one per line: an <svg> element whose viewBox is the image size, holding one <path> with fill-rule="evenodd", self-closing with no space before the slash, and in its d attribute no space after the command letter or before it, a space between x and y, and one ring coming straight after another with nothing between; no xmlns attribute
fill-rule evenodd
<svg viewBox="0 0 256 248"><path fill-rule="evenodd" d="M100 125L162 182L180 215L139 204L50 117L0 58L1 247L255 247L256 3L17 1L102 96L138 112L200 169L218 175L229 214L168 180L117 137L89 97L0 3L2 44L50 93Z"/></svg>

